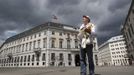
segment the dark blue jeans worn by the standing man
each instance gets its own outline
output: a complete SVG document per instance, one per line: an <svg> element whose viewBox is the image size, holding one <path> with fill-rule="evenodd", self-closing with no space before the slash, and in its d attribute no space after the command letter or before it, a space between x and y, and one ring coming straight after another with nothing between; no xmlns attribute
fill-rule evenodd
<svg viewBox="0 0 134 75"><path fill-rule="evenodd" d="M89 73L90 75L94 75L94 61L93 61L93 44L86 45L86 48L82 48L80 45L80 70L81 75L87 75L87 69L86 69L86 54L88 58L88 64L89 64Z"/></svg>

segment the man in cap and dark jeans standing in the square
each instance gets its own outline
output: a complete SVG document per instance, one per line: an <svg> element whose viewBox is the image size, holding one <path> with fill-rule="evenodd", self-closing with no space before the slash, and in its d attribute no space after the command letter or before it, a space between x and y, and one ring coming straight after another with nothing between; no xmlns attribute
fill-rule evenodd
<svg viewBox="0 0 134 75"><path fill-rule="evenodd" d="M89 64L89 75L94 75L94 61L93 61L93 33L94 24L90 23L89 16L84 15L83 24L80 27L78 38L80 41L80 73L87 75L86 54Z"/></svg>

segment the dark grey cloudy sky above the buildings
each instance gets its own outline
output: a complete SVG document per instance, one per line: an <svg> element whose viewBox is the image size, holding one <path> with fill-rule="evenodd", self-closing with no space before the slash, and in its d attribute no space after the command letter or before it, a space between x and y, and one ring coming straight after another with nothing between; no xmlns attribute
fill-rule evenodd
<svg viewBox="0 0 134 75"><path fill-rule="evenodd" d="M0 44L8 37L51 21L80 26L82 15L96 25L99 43L120 33L131 0L0 0Z"/></svg>

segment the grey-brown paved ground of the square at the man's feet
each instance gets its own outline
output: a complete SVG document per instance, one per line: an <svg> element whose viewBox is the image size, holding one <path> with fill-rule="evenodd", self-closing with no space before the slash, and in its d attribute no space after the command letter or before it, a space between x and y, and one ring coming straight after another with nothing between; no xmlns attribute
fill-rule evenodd
<svg viewBox="0 0 134 75"><path fill-rule="evenodd" d="M96 67L96 75L134 75L134 66ZM79 67L0 68L0 75L80 75Z"/></svg>

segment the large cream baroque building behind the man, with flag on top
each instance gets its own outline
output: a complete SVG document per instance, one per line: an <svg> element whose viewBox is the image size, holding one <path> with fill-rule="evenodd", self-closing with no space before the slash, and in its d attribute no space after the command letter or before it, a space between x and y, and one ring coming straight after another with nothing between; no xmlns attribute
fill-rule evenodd
<svg viewBox="0 0 134 75"><path fill-rule="evenodd" d="M46 22L8 38L0 47L1 67L79 66L79 27ZM94 63L98 44L94 37Z"/></svg>

